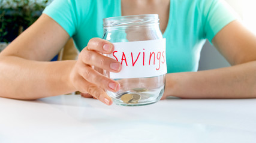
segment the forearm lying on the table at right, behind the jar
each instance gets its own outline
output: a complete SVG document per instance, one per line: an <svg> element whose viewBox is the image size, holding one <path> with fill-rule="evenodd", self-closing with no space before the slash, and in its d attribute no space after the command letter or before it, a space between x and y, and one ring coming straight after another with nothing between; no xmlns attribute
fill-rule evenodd
<svg viewBox="0 0 256 143"><path fill-rule="evenodd" d="M171 73L164 96L181 98L256 98L256 61L222 69Z"/></svg>

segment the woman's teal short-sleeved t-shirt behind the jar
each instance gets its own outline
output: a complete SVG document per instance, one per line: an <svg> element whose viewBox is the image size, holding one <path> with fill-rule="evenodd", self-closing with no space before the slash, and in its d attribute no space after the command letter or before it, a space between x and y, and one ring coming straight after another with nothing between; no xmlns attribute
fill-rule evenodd
<svg viewBox="0 0 256 143"><path fill-rule="evenodd" d="M82 51L103 37L103 18L121 16L121 0L54 0L43 11L59 23ZM166 38L168 73L197 71L201 48L236 14L222 0L170 0Z"/></svg>

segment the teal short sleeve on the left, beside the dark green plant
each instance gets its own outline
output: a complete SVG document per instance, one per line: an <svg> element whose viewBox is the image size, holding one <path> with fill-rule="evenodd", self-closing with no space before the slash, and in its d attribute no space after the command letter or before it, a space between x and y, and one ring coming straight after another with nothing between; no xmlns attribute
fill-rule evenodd
<svg viewBox="0 0 256 143"><path fill-rule="evenodd" d="M72 37L76 33L77 14L74 11L76 2L72 0L54 0L43 13L53 18Z"/></svg>

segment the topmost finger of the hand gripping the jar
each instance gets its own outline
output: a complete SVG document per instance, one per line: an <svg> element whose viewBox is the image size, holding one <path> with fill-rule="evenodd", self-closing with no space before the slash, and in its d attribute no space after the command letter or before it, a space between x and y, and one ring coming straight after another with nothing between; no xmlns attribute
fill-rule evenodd
<svg viewBox="0 0 256 143"><path fill-rule="evenodd" d="M111 54L114 50L114 45L104 39L92 38L88 42L87 48L88 50Z"/></svg>

